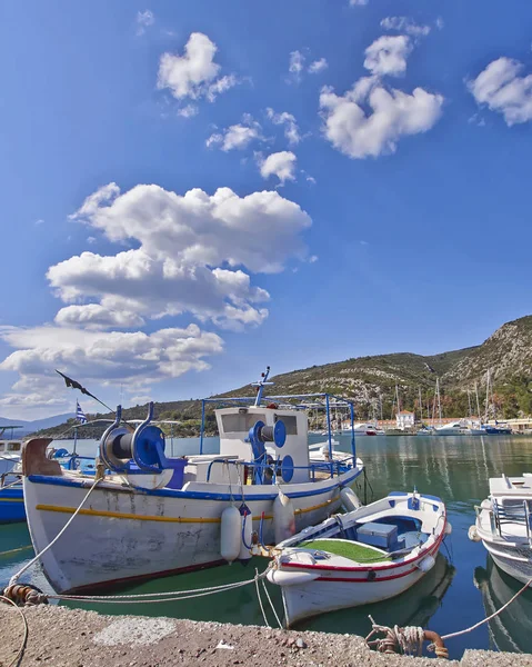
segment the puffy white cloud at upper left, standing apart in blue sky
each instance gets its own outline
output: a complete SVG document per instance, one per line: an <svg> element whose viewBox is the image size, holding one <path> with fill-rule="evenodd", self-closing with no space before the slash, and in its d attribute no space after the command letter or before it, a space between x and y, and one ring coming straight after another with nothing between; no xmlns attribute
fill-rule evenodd
<svg viewBox="0 0 532 667"><path fill-rule="evenodd" d="M183 56L161 56L158 88L168 88L178 100L198 100L204 97L211 102L214 101L217 96L238 83L234 74L219 77L221 67L214 62L217 51L218 47L207 34L192 32L184 46ZM181 116L190 117L190 104L188 108L189 111L181 111Z"/></svg>

